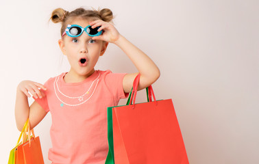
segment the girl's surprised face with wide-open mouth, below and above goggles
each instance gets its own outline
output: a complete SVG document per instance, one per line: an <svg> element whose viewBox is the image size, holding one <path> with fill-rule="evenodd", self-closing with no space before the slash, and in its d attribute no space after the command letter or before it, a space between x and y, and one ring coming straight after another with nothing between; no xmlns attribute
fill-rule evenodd
<svg viewBox="0 0 259 164"><path fill-rule="evenodd" d="M81 27L89 25L88 20L81 18L75 18L69 24ZM58 43L62 53L69 60L71 70L82 76L87 75L87 77L94 72L99 56L103 55L108 46L108 43L102 40L92 40L92 37L88 36L85 31L76 38L64 35L63 40L58 40ZM84 59L86 59L85 62Z"/></svg>

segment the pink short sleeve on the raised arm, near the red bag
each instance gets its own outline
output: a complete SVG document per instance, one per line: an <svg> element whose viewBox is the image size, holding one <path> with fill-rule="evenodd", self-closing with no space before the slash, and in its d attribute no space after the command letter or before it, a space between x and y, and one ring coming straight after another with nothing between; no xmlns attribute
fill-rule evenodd
<svg viewBox="0 0 259 164"><path fill-rule="evenodd" d="M106 74L105 81L110 92L116 99L127 98L128 93L123 90L123 78L127 73L108 73Z"/></svg>

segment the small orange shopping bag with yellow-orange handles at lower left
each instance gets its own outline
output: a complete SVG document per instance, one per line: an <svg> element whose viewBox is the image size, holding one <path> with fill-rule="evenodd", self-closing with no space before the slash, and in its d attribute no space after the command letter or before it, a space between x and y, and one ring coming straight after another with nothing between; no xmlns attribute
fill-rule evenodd
<svg viewBox="0 0 259 164"><path fill-rule="evenodd" d="M31 136L32 133L32 136ZM22 143L19 143L23 135ZM19 143L19 144L18 144ZM44 164L40 138L35 137L34 130L30 129L29 119L25 122L23 131L14 150L14 163L16 164Z"/></svg>

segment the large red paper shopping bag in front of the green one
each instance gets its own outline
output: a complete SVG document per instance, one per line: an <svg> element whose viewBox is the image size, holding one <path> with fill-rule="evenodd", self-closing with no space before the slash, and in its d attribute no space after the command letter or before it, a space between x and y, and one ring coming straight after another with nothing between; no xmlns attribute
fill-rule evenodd
<svg viewBox="0 0 259 164"><path fill-rule="evenodd" d="M135 104L139 79L140 74L130 98L133 104L112 108L114 163L188 163L172 100L156 100L150 86L150 102Z"/></svg>

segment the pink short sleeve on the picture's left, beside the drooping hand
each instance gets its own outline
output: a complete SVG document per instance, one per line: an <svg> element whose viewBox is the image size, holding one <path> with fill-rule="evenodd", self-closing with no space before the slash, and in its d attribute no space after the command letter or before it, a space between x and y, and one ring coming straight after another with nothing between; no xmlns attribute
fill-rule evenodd
<svg viewBox="0 0 259 164"><path fill-rule="evenodd" d="M42 98L34 98L34 100L36 102L38 102L38 104L42 107L42 109L44 109L45 111L49 112L49 105L48 105L48 90L50 89L50 81L51 79L47 80L45 83L44 83L44 86L47 88L47 90L41 90L41 92L43 92L45 94L44 97Z"/></svg>

